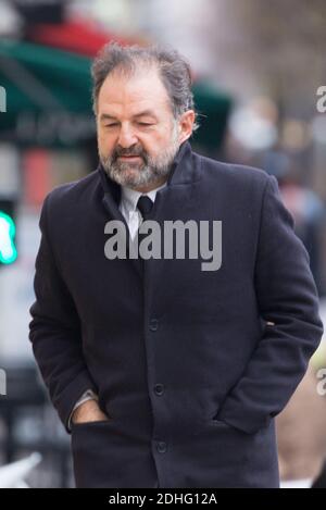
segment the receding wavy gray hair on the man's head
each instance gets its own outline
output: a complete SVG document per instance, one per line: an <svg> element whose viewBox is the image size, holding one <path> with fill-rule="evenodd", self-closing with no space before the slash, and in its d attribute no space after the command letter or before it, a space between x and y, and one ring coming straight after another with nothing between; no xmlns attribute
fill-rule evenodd
<svg viewBox="0 0 326 510"><path fill-rule="evenodd" d="M161 46L127 46L109 42L99 52L91 67L93 80L92 103L97 114L97 103L100 89L114 70L130 76L137 71L137 65L156 66L163 85L171 101L174 117L177 120L187 110L193 110L196 120L192 130L199 127L191 91L191 69L189 63L178 51Z"/></svg>

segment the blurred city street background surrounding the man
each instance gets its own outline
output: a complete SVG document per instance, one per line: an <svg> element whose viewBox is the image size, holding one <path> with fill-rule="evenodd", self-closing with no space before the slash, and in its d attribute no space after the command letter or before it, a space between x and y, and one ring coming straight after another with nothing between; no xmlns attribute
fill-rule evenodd
<svg viewBox="0 0 326 510"><path fill-rule="evenodd" d="M187 57L201 123L193 149L277 177L325 318L326 113L316 107L325 25L325 0L0 0L0 487L24 473L32 487L74 486L70 437L33 359L28 309L42 200L97 167L91 59L110 40L165 42ZM325 368L323 340L278 418L284 486L310 487L322 472ZM21 459L27 464L8 475L3 467Z"/></svg>

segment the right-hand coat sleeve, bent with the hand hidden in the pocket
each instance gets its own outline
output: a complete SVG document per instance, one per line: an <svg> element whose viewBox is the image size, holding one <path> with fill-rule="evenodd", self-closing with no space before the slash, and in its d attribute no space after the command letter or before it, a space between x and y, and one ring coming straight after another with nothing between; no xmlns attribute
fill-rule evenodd
<svg viewBox="0 0 326 510"><path fill-rule="evenodd" d="M267 426L284 409L323 335L309 256L275 177L268 177L261 214L254 284L265 328L218 412L220 420L247 433Z"/></svg>

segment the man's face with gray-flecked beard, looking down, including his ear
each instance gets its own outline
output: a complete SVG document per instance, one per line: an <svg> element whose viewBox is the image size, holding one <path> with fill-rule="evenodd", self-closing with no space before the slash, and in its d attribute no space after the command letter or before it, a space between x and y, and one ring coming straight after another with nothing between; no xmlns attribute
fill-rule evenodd
<svg viewBox="0 0 326 510"><path fill-rule="evenodd" d="M98 96L98 148L103 169L117 184L140 191L166 181L193 112L176 119L155 67L133 75L113 71Z"/></svg>

